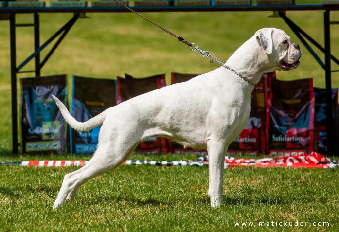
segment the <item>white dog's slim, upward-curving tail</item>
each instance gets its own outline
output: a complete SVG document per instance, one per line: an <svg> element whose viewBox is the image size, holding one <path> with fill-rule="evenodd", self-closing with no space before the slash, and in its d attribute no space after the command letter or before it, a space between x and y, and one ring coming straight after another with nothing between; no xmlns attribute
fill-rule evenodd
<svg viewBox="0 0 339 232"><path fill-rule="evenodd" d="M56 105L59 107L62 116L64 117L64 119L66 120L66 122L74 129L77 131L88 131L90 129L93 129L99 125L103 125L103 122L106 118L106 110L98 115L96 115L95 117L89 119L88 121L84 122L84 123L80 123L78 121L75 120L75 118L73 118L70 114L70 112L68 112L68 109L66 108L66 106L54 95L52 95Z"/></svg>

